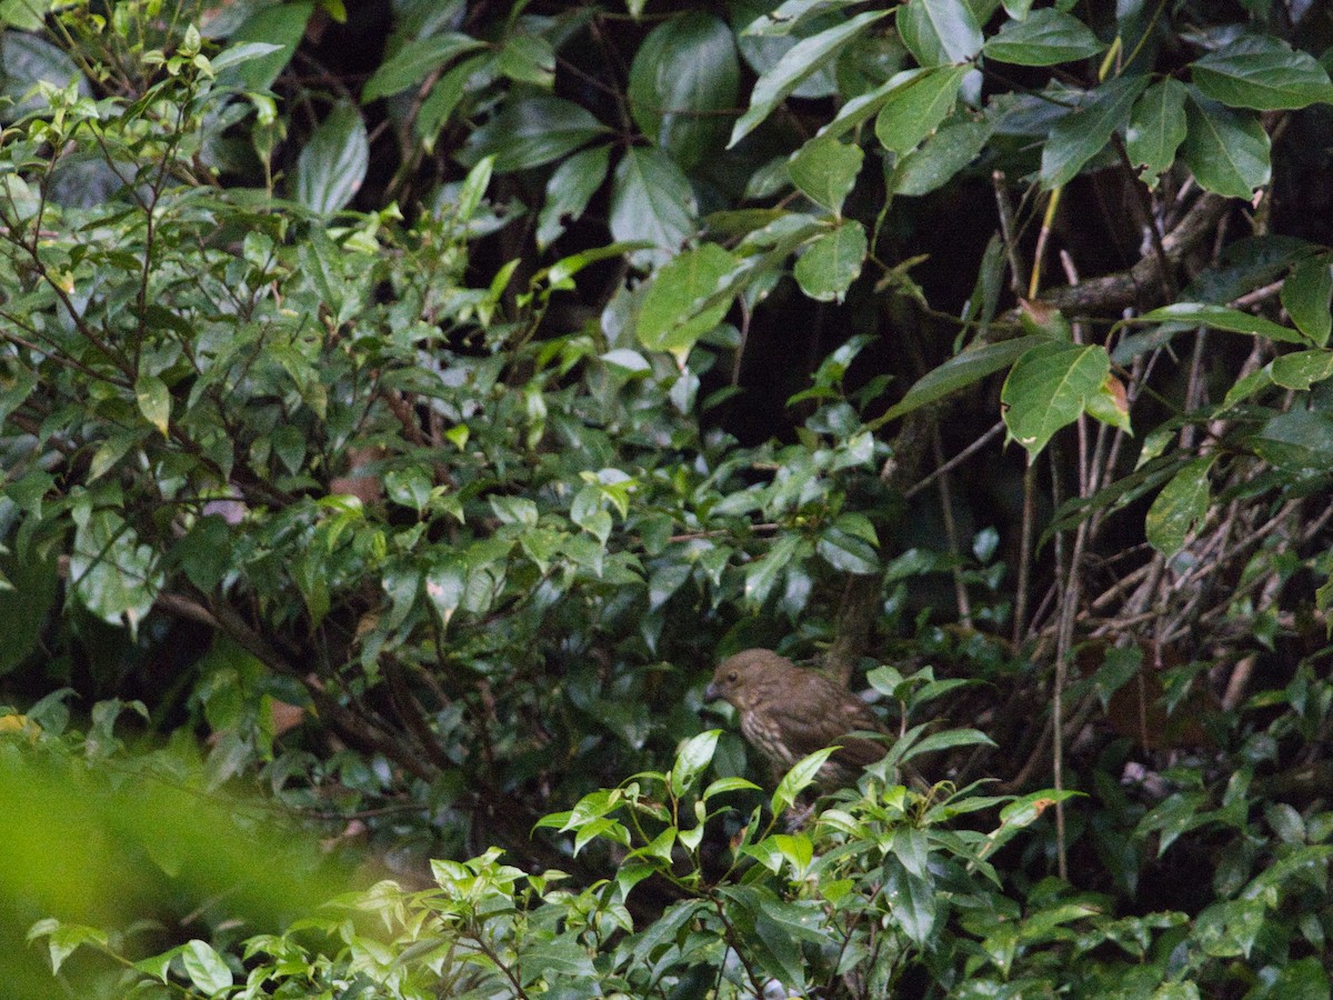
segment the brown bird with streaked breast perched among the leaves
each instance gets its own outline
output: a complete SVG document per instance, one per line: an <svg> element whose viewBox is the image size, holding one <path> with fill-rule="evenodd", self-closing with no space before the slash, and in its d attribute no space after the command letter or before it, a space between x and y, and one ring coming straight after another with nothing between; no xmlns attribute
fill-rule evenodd
<svg viewBox="0 0 1333 1000"><path fill-rule="evenodd" d="M840 747L820 768L824 788L841 788L886 752L882 743L848 736L886 732L870 707L814 671L802 671L770 649L745 649L718 664L705 696L730 701L745 739L778 773L808 753Z"/></svg>

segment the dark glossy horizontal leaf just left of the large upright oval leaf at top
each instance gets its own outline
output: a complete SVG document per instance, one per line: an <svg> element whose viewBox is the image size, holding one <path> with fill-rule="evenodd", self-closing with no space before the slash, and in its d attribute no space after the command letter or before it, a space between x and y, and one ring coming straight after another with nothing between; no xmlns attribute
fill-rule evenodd
<svg viewBox="0 0 1333 1000"><path fill-rule="evenodd" d="M591 112L563 97L516 92L468 136L459 159L471 167L495 155L497 173L525 171L559 160L607 131Z"/></svg>

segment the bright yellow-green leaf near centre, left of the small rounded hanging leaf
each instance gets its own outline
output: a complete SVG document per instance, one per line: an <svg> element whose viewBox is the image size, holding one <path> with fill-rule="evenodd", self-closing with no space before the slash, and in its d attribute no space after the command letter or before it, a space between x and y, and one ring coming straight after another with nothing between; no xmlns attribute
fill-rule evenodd
<svg viewBox="0 0 1333 1000"><path fill-rule="evenodd" d="M734 267L734 257L716 243L705 243L663 264L644 292L636 325L639 341L649 351L688 355L726 315L728 301L702 311L700 305Z"/></svg>

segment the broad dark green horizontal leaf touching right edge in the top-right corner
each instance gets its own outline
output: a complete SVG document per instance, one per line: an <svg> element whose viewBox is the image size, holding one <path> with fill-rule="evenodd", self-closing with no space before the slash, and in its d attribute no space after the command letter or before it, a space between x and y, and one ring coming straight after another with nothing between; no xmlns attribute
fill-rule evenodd
<svg viewBox="0 0 1333 1000"><path fill-rule="evenodd" d="M1272 35L1245 35L1190 65L1205 97L1233 108L1274 111L1333 104L1333 83L1312 55Z"/></svg>

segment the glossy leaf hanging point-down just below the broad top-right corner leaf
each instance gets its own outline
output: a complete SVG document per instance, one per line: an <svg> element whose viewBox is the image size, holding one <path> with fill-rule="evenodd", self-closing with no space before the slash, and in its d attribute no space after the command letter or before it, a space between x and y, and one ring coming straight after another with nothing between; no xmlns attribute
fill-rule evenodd
<svg viewBox="0 0 1333 1000"><path fill-rule="evenodd" d="M1190 95L1188 132L1180 159L1201 187L1226 197L1249 199L1268 184L1270 140L1258 116Z"/></svg>

